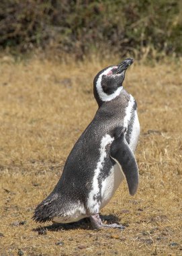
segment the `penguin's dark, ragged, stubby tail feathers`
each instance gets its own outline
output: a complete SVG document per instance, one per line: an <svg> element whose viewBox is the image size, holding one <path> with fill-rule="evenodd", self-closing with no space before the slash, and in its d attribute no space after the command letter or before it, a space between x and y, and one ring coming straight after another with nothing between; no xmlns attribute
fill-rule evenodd
<svg viewBox="0 0 182 256"><path fill-rule="evenodd" d="M52 218L58 214L58 194L50 194L44 199L34 211L33 220L36 222L46 222L52 220Z"/></svg>

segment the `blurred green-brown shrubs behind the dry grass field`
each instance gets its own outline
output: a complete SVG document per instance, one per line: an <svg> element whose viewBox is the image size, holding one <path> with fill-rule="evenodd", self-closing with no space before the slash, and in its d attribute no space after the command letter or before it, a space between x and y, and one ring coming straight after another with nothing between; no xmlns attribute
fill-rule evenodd
<svg viewBox="0 0 182 256"><path fill-rule="evenodd" d="M181 0L1 0L0 50L161 59L182 53Z"/></svg>

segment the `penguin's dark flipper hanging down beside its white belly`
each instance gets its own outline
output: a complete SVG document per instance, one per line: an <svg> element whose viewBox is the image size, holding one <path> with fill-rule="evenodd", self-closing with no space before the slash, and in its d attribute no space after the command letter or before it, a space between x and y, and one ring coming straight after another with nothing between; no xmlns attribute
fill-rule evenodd
<svg viewBox="0 0 182 256"><path fill-rule="evenodd" d="M126 128L116 127L113 131L114 140L111 143L110 156L120 166L128 183L130 195L134 195L138 188L138 166L134 153L130 149L126 138Z"/></svg>

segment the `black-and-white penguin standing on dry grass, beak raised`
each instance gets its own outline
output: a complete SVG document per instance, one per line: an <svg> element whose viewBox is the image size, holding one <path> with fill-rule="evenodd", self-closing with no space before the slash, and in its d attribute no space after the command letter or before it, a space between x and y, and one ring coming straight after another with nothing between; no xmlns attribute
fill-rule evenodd
<svg viewBox="0 0 182 256"><path fill-rule="evenodd" d="M36 207L36 222L69 223L89 217L93 228L122 228L103 224L99 211L124 178L131 195L138 188L134 157L140 133L137 105L122 86L126 69L133 62L128 58L95 76L97 113L71 150L56 187Z"/></svg>

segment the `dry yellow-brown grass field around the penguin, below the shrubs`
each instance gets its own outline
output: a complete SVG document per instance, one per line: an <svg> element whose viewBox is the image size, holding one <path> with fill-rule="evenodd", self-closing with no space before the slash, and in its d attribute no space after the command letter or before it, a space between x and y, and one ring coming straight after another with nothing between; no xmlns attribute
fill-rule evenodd
<svg viewBox="0 0 182 256"><path fill-rule="evenodd" d="M123 183L101 211L124 231L94 231L88 220L58 227L31 218L97 110L93 77L119 60L0 61L0 255L182 255L181 65L136 61L128 69L124 86L141 125L140 187L131 197Z"/></svg>

